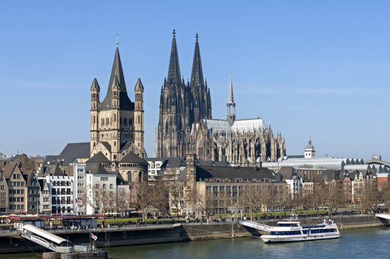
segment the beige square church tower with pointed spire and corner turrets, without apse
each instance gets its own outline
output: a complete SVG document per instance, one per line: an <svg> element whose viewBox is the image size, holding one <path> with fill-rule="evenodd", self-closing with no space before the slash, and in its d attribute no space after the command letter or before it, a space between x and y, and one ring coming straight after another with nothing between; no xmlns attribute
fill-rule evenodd
<svg viewBox="0 0 390 259"><path fill-rule="evenodd" d="M107 95L99 101L100 87L91 85L91 157L102 152L110 161L120 161L129 152L143 158L143 86L138 78L135 100L126 89L119 49L115 52Z"/></svg>

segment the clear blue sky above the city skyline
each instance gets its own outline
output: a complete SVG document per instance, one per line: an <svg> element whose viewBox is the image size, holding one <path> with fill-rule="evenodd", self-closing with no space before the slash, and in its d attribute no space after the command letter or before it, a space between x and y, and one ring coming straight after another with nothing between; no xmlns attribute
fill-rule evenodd
<svg viewBox="0 0 390 259"><path fill-rule="evenodd" d="M176 28L187 80L199 33L213 117L263 113L287 154L390 159L389 1L1 1L0 151L56 155L89 141L90 86L101 100L116 32L130 99L145 87L145 134L158 122ZM145 147L151 155L152 144Z"/></svg>

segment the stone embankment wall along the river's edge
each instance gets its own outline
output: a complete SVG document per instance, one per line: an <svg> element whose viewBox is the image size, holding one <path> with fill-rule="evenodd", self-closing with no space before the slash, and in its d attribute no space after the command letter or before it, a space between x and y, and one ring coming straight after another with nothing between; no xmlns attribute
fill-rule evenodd
<svg viewBox="0 0 390 259"><path fill-rule="evenodd" d="M323 218L299 218L301 224L318 223ZM369 228L389 225L372 215L335 216L331 219L340 229ZM276 225L280 219L259 220L267 225ZM283 220L283 219L282 219ZM286 219L284 219L286 220ZM101 248L110 246L140 245L166 242L183 242L205 239L225 239L248 236L261 236L263 233L254 228L245 227L236 221L210 223L176 223L147 226L125 226L118 229L90 229L88 231L63 230L50 231L63 239L68 239L73 245L88 244L89 231L98 237L94 245ZM43 251L43 247L29 240L21 239L18 233L3 233L0 235L0 254L14 252Z"/></svg>

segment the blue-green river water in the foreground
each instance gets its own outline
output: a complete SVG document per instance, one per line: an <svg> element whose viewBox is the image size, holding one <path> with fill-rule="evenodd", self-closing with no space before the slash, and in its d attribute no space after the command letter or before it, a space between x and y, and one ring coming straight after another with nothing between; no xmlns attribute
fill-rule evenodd
<svg viewBox="0 0 390 259"><path fill-rule="evenodd" d="M111 259L128 258L388 258L390 228L345 230L339 239L266 244L259 238L111 247ZM37 258L36 254L0 258Z"/></svg>

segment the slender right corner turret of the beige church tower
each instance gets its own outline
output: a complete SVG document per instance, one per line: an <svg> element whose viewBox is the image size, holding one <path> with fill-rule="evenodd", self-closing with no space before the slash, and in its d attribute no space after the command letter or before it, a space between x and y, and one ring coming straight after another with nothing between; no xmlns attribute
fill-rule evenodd
<svg viewBox="0 0 390 259"><path fill-rule="evenodd" d="M134 110L134 144L143 152L143 85L139 77L136 86L134 87L134 92L136 95ZM142 153L142 156L143 155L144 154Z"/></svg>

